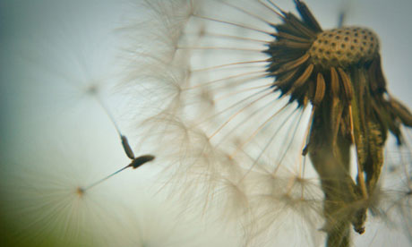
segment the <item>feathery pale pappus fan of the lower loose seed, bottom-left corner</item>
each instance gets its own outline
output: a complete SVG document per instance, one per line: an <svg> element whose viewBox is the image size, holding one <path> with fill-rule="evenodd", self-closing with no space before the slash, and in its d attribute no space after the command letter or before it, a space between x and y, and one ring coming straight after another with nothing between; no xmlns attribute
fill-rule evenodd
<svg viewBox="0 0 412 247"><path fill-rule="evenodd" d="M31 158L27 166L14 164L27 174L8 173L11 177L2 182L2 194L7 200L1 204L1 217L11 223L6 235L10 243L19 246L121 243L112 238L122 235L122 225L116 213L108 213L105 204L111 204L110 200L102 197L101 192L86 193L75 177L71 177L70 164L63 167L54 163L54 171L50 171L47 170L50 164L37 163L39 160ZM19 185L12 186L10 179L20 181ZM106 231L107 237L99 236L99 231Z"/></svg>

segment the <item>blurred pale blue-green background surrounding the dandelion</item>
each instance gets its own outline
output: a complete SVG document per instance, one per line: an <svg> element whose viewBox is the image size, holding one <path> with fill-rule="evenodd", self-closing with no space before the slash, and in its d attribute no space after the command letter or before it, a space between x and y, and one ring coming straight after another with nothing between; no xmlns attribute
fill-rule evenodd
<svg viewBox="0 0 412 247"><path fill-rule="evenodd" d="M140 96L120 86L131 46L124 27L131 13L145 14L134 1L0 2L0 245L238 246L236 231L182 213L183 205L159 192L158 166L76 194L130 161L94 89L131 146L139 142L140 113L129 99ZM275 2L294 10L292 1ZM373 29L390 92L412 106L411 1L306 3L323 29L335 27L342 11L347 25ZM369 246L371 238L356 239L356 246Z"/></svg>

